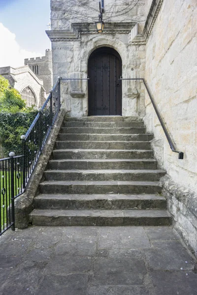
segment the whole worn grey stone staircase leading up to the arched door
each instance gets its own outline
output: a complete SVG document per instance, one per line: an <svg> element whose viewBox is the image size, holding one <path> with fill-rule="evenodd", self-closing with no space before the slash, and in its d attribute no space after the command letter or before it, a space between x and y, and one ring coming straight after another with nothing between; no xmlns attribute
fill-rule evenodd
<svg viewBox="0 0 197 295"><path fill-rule="evenodd" d="M170 225L143 121L65 118L30 222L39 226Z"/></svg>

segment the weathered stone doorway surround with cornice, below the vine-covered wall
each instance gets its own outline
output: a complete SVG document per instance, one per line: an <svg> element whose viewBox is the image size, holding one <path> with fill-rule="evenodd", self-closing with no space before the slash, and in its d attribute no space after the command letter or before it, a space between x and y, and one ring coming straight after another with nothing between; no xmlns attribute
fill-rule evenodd
<svg viewBox="0 0 197 295"><path fill-rule="evenodd" d="M86 78L88 59L100 47L115 49L122 59L122 75L125 78L144 77L145 45L131 43L131 30L136 23L106 23L102 34L95 24L74 23L68 30L47 31L52 41L54 82L62 78ZM122 116L143 116L144 89L138 81L122 83ZM62 101L66 115L88 116L88 83L83 80L65 81Z"/></svg>

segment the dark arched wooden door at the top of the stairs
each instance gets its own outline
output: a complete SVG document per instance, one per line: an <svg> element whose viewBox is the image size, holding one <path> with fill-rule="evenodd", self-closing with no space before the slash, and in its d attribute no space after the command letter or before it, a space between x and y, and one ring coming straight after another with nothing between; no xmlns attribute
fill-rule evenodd
<svg viewBox="0 0 197 295"><path fill-rule="evenodd" d="M88 116L122 115L122 60L109 47L96 49L88 59Z"/></svg>

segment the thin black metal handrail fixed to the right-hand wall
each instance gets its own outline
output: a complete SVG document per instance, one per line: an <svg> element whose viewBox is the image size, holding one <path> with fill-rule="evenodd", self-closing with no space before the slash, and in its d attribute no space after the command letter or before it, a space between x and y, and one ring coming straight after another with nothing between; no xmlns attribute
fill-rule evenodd
<svg viewBox="0 0 197 295"><path fill-rule="evenodd" d="M182 152L182 151L178 151L178 150L176 150L176 148L175 148L175 146L174 146L174 144L173 144L173 142L172 142L172 140L171 140L171 138L170 138L170 135L169 135L169 133L168 133L168 131L167 131L167 129L166 129L166 127L165 127L165 125L164 125L164 121L163 121L163 119L162 119L162 117L161 117L161 115L160 115L160 112L159 112L159 110L158 110L158 107L157 107L157 105L156 105L156 103L155 103L155 101L154 101L154 99L153 99L153 96L151 95L151 92L150 92L150 90L149 90L149 88L148 88L148 85L146 84L146 81L145 81L145 79L144 78L123 78L122 76L120 77L120 79L119 80L141 80L141 81L143 81L143 83L144 83L144 86L145 86L145 88L146 88L146 90L147 90L147 92L148 92L148 95L149 95L149 97L150 97L150 100L151 100L151 102L152 102L152 104L153 104L153 107L154 107L154 109L155 109L155 112L156 112L156 114L157 114L157 117L158 117L158 119L159 119L159 121L160 121L160 123L161 123L161 125L162 125L162 128L163 128L163 130L164 130L164 134L165 134L165 136L166 136L166 138L167 138L167 141L168 141L168 143L169 143L169 146L170 146L170 148L171 148L171 150L173 151L173 152L177 152L178 154L179 154L179 159L183 159L183 156L184 156L184 153Z"/></svg>

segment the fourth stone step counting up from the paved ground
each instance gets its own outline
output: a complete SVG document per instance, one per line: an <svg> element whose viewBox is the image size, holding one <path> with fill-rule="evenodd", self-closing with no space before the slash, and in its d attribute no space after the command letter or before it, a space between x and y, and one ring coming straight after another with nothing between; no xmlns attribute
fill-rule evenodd
<svg viewBox="0 0 197 295"><path fill-rule="evenodd" d="M47 170L45 180L55 181L159 181L164 170Z"/></svg>

